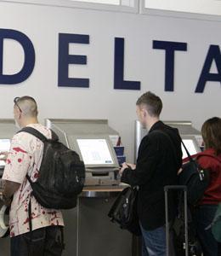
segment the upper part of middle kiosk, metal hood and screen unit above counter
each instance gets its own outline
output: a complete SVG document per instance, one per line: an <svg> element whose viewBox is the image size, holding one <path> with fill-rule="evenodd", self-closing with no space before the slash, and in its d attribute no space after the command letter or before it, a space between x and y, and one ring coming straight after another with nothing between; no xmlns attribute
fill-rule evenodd
<svg viewBox="0 0 221 256"><path fill-rule="evenodd" d="M115 185L119 170L113 141L118 133L97 119L47 119L59 140L80 155L86 166L85 185Z"/></svg>

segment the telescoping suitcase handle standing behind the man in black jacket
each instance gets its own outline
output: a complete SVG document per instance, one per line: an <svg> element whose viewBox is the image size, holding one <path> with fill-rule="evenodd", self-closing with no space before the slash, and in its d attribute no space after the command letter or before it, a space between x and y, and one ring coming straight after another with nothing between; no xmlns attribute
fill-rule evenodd
<svg viewBox="0 0 221 256"><path fill-rule="evenodd" d="M187 214L187 187L186 186L175 186L168 185L164 187L164 195L165 195L165 212L166 212L166 244L167 244L167 256L169 254L169 218L168 218L168 196L167 193L169 190L183 190L184 191L184 232L185 232L185 256L189 255L189 241L188 241L188 214Z"/></svg>

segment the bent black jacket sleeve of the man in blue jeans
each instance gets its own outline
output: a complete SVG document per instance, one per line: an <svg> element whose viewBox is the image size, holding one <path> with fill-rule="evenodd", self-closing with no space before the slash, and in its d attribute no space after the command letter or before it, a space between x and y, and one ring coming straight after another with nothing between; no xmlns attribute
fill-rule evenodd
<svg viewBox="0 0 221 256"><path fill-rule="evenodd" d="M124 172L122 172L122 183L128 183L133 186L148 183L156 170L160 155L157 140L155 141L150 138L144 140L139 147L136 169L125 169Z"/></svg>

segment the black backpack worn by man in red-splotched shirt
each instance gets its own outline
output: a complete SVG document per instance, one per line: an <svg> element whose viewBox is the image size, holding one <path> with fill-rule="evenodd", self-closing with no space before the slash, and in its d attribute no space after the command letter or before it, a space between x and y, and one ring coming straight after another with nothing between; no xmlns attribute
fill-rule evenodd
<svg viewBox="0 0 221 256"><path fill-rule="evenodd" d="M52 139L43 136L32 127L26 131L44 143L42 163L36 182L26 175L31 183L32 195L42 207L52 209L71 209L77 205L77 195L82 192L85 180L85 166L79 155L59 142L52 132Z"/></svg>

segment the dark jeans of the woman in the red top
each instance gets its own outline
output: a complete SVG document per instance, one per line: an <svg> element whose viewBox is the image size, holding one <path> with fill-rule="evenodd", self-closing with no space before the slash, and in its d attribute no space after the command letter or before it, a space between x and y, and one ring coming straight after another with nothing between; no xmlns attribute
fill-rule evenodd
<svg viewBox="0 0 221 256"><path fill-rule="evenodd" d="M211 228L205 230L207 226L212 223L216 210L216 205L204 205L197 207L193 215L197 236L201 242L204 256L221 255L219 249L220 244L213 237Z"/></svg>

